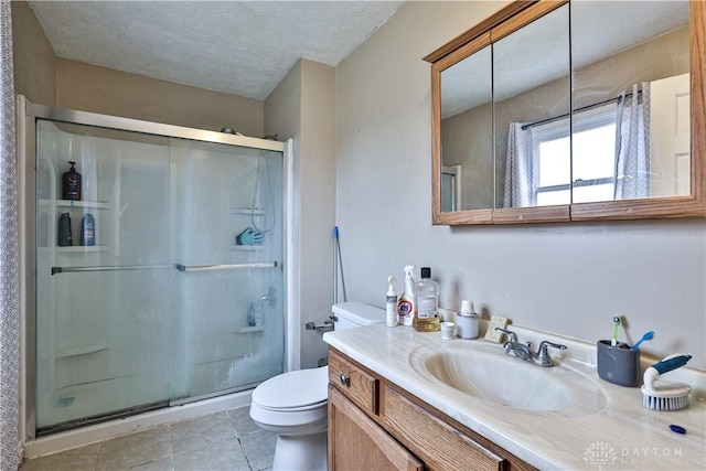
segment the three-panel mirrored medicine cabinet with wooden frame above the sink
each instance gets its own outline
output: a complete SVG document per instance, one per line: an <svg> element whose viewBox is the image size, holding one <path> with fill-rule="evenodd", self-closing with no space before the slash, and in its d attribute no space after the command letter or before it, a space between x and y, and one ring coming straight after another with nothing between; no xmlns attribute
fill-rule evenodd
<svg viewBox="0 0 706 471"><path fill-rule="evenodd" d="M514 1L431 54L432 223L706 217L706 2Z"/></svg>

